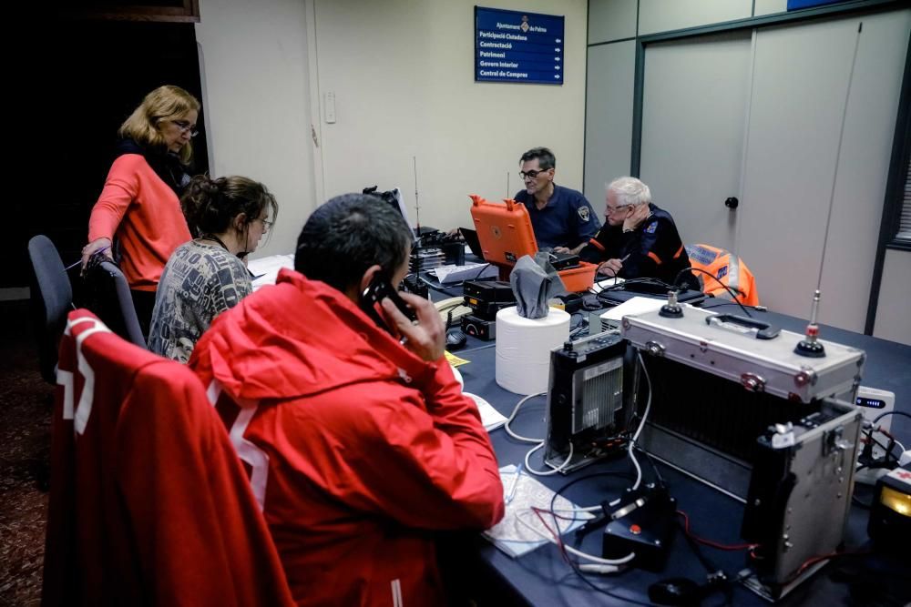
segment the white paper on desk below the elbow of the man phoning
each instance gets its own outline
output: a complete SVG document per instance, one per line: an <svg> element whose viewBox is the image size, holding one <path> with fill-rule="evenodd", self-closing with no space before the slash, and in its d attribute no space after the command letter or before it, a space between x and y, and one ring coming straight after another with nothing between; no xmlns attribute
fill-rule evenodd
<svg viewBox="0 0 911 607"><path fill-rule="evenodd" d="M503 481L503 488L506 493L512 492L514 481L516 481L516 473L517 467L514 465L504 466L500 469L500 479ZM513 493L512 500L507 503L507 511L503 516L503 520L484 531L482 535L487 540L494 542L497 548L514 559L536 550L546 543L552 543L553 539L550 531L545 529L540 519L537 518L537 515L531 509L535 507L546 511L550 510L550 501L553 500L553 497L553 491L550 491L540 481L537 481L527 471L523 470L518 475L516 491ZM594 514L590 512L576 510L577 507L564 497L557 498L557 501L554 502L554 508L560 516L567 518L575 516L576 518L575 521L558 519L562 533L574 531L585 521L594 518ZM555 523L552 516L546 512L542 513L541 516L545 521L548 521L548 525L551 528L554 528ZM537 529L537 531L544 534L544 537L528 529L523 523L527 523L528 526ZM545 539L545 537L549 540Z"/></svg>

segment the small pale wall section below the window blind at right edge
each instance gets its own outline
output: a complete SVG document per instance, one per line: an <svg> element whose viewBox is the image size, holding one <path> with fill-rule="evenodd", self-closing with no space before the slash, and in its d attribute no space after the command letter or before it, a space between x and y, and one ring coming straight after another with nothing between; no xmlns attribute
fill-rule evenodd
<svg viewBox="0 0 911 607"><path fill-rule="evenodd" d="M885 251L873 334L911 346L911 251Z"/></svg>

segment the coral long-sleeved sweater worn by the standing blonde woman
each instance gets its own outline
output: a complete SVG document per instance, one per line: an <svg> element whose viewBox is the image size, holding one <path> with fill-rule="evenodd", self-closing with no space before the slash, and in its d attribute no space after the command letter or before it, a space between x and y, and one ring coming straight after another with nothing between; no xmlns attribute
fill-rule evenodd
<svg viewBox="0 0 911 607"><path fill-rule="evenodd" d="M129 288L154 291L174 249L192 239L180 202L139 154L118 157L88 220L88 241L120 239Z"/></svg>

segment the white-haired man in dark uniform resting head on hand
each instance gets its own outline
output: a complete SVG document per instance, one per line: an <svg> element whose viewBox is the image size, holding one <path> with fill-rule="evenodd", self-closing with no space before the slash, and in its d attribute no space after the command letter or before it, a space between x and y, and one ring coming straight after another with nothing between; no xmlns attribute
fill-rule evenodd
<svg viewBox="0 0 911 607"><path fill-rule="evenodd" d="M657 278L668 284L690 268L673 218L651 202L649 187L636 177L609 183L604 227L579 257L600 263L599 272L607 276ZM683 272L679 284L699 289L692 272Z"/></svg>

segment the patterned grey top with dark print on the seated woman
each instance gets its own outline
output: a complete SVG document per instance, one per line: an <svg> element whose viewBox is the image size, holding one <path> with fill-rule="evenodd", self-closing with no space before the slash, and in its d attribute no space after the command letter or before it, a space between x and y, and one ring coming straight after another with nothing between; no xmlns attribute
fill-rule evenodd
<svg viewBox="0 0 911 607"><path fill-rule="evenodd" d="M237 256L209 240L181 245L161 274L148 349L187 362L212 320L252 290L247 267Z"/></svg>

